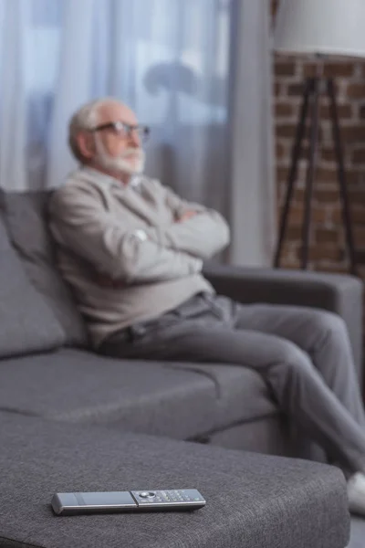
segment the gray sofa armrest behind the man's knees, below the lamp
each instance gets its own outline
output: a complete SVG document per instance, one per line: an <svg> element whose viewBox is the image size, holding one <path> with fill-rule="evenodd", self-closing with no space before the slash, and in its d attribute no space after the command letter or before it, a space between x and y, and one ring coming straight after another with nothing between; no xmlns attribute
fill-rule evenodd
<svg viewBox="0 0 365 548"><path fill-rule="evenodd" d="M206 264L217 293L242 303L294 304L336 312L345 321L362 383L362 281L345 274ZM362 387L362 384L361 384Z"/></svg>

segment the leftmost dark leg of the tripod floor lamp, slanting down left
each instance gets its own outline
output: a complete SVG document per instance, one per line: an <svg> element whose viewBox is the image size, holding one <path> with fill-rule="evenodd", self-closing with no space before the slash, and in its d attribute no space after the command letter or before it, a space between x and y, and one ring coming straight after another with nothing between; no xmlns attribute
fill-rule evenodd
<svg viewBox="0 0 365 548"><path fill-rule="evenodd" d="M287 195L286 195L283 213L280 220L279 237L277 241L275 259L274 259L274 267L276 269L280 266L280 256L281 256L284 237L287 229L287 216L289 214L289 207L290 207L290 202L293 195L294 184L297 180L297 163L300 158L300 154L302 152L302 142L303 142L304 132L306 129L307 116L308 116L308 102L309 102L309 96L312 93L312 90L313 90L313 79L307 79L305 88L303 90L303 101L300 109L299 119L297 122L296 140L294 142L293 150L292 150L291 167L290 167L289 176L287 180Z"/></svg>

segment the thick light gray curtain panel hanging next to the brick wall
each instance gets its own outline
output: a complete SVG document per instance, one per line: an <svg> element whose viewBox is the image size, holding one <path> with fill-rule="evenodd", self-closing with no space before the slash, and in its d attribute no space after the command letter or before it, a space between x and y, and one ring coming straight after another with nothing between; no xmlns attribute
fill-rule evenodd
<svg viewBox="0 0 365 548"><path fill-rule="evenodd" d="M270 11L266 0L235 5L231 100L230 262L270 266L276 243Z"/></svg>

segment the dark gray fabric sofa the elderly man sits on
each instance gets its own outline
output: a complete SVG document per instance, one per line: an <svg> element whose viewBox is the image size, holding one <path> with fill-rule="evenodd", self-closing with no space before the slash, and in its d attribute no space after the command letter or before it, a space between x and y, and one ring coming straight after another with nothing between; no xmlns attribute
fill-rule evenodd
<svg viewBox="0 0 365 548"><path fill-rule="evenodd" d="M9 483L5 477L0 481L0 503L3 494L8 504L0 520L0 546L91 545L88 539L94 538L96 532L90 521L87 522L89 536L87 534L82 542L76 522L75 531L72 529L70 535L62 527L57 529L56 536L51 534L48 528L52 530L52 522L47 522L50 516L47 514L46 518L45 511L37 518L36 515L32 518L32 512L26 513L23 505L19 521L16 521L14 501L17 495L14 496L12 486L16 486L14 489L17 494L20 486L26 486L26 490L34 492L35 496L40 495L36 487L33 491L29 487L33 485L32 481L36 484L39 480L44 486L46 481L47 489L50 489L48 476L40 480L42 474L36 463L43 462L48 471L53 470L52 473L62 478L63 483L54 482L55 490L56 484L58 490L61 490L68 472L70 479L66 483L71 489L71 484L74 485L71 478L75 480L75 474L80 473L78 457L87 469L95 471L98 462L106 462L103 447L110 448L112 454L111 446L118 437L120 458L125 456L127 459L127 471L132 470L129 477L133 481L139 478L143 482L147 481L146 474L150 467L146 463L150 455L154 485L156 481L160 484L161 480L172 484L173 469L170 476L165 473L171 467L172 459L166 457L163 460L163 454L170 455L172 451L176 453L174 466L177 474L173 483L183 481L184 477L193 479L188 473L189 466L183 465L184 460L180 461L179 455L182 452L183 459L196 462L194 477L202 479L201 483L198 481L202 490L215 492L219 499L219 490L225 486L222 504L218 504L218 508L224 512L225 534L230 541L219 528L214 540L210 536L212 527L209 520L205 523L206 539L209 542L203 542L202 524L198 527L199 532L196 530L198 536L195 537L192 532L190 538L189 529L184 529L188 527L186 516L176 516L173 518L177 527L176 537L169 543L168 537L162 535L162 539L156 540L153 546L193 546L197 545L199 537L198 545L212 548L241 545L304 546L308 545L309 539L312 548L327 545L343 548L349 534L349 519L345 483L339 470L301 460L249 456L242 452L249 450L276 456L323 458L318 448L281 416L258 374L232 364L145 363L106 358L89 350L85 325L68 287L55 267L54 247L47 230L47 199L47 193L0 192L0 438L6 448L2 451L1 461L3 469L6 468L6 462L9 463L13 481ZM205 275L218 292L242 302L304 304L338 312L349 328L361 382L362 285L358 279L341 275L214 265L206 265ZM39 439L38 445L34 442L35 437ZM52 443L50 437L53 438ZM76 438L81 440L80 448L75 447L72 441ZM189 440L200 443L191 444ZM134 451L143 451L144 467L139 461L133 468L133 447ZM161 454L156 453L156 448ZM52 454L51 460L47 458L47 451ZM66 454L68 458L65 464L63 455ZM70 472L67 464L72 461L72 455L78 472ZM18 471L16 458L20 458L24 465ZM112 469L110 458L108 454L108 469ZM159 466L164 470L161 474ZM91 472L85 472L78 486L84 490L102 490L105 479L105 490L108 490L113 476L110 472L107 478L101 474L101 469L98 469L98 479L93 476L90 480ZM290 470L288 476L284 471L286 469ZM245 470L248 470L249 485L241 477L242 474L245 477ZM261 538L262 524L257 521L257 516L260 511L265 515L270 513L264 504L265 490L260 488L260 481L257 481L264 470L269 471L264 474L263 481L267 489L271 490L270 503L274 506L268 518L268 528ZM212 474L216 476L215 491L212 488ZM240 475L239 479L237 474ZM126 472L122 476L123 481L127 477ZM319 478L322 479L319 481ZM232 484L234 490L231 495L227 494L231 489L229 484ZM276 496L272 491L274 484L279 492L276 507ZM208 489L209 485L211 488ZM165 484L163 487L168 488ZM245 499L245 487L253 497L250 501ZM44 492L47 489L45 487ZM129 488L125 486L125 489ZM228 509L234 503L235 491L239 505L243 501L245 504L239 510L235 509L231 518ZM251 503L254 513L249 509ZM332 511L328 511L328 504ZM203 511L200 515L203 515ZM304 512L302 516L301 512ZM247 531L250 531L246 537L240 532L243 513L247 513ZM14 523L11 519L9 522L7 514L13 516ZM279 529L275 526L275 518ZM143 522L139 522L146 524L146 532L141 532L140 537L135 536L135 544L130 540L121 544L115 541L114 544L110 537L105 545L141 545L143 535L150 531L149 527L154 523L149 522L149 519L143 517ZM209 519L214 522L214 514ZM266 518L263 519L265 522ZM115 520L115 516L110 517L111 529L108 528L108 531L111 531L111 536L117 534ZM133 520L135 517L130 517L126 523L133 523ZM158 516L158 520L161 525L163 523L163 527L169 527L162 515ZM310 532L316 530L314 522L309 527L308 521L311 520L318 523L318 538L310 537ZM237 521L240 522L239 526ZM84 522L85 518L82 518L80 523ZM33 531L35 523L38 523L39 532L43 536ZM99 518L92 523L96 523L95 527L98 528ZM281 537L280 523L284 529L290 524L290 538ZM130 527L130 532L125 531L126 539L135 535L133 526ZM153 527L156 529L155 525ZM235 530L235 527L238 529ZM233 528L232 531L230 528ZM86 531L85 527L83 531ZM242 543L237 541L238 532ZM270 534L276 539L275 543L269 542ZM333 542L329 544L325 536ZM52 541L47 543L47 538L52 538Z"/></svg>

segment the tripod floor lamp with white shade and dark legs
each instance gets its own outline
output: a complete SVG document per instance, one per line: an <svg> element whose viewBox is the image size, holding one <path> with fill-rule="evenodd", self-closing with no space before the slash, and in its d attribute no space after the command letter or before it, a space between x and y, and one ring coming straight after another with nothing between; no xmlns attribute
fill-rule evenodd
<svg viewBox="0 0 365 548"><path fill-rule="evenodd" d="M339 196L351 273L356 273L355 250L346 173L340 138L338 104L333 78L324 78L323 66L329 57L365 58L365 0L281 0L276 16L274 49L286 55L311 56L317 64L317 74L308 78L303 88L302 105L293 145L287 194L280 219L274 266L280 266L287 218L297 180L306 124L310 120L308 171L302 225L301 267L308 267L311 203L318 160L319 99L328 96L329 114L337 162Z"/></svg>

